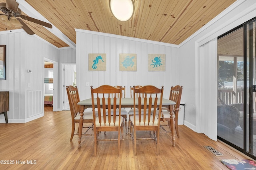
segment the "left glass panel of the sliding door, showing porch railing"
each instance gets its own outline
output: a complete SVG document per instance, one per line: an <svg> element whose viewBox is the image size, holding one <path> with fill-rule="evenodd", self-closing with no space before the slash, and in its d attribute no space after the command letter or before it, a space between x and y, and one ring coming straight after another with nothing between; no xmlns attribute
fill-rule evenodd
<svg viewBox="0 0 256 170"><path fill-rule="evenodd" d="M218 139L244 148L244 31L218 39Z"/></svg>

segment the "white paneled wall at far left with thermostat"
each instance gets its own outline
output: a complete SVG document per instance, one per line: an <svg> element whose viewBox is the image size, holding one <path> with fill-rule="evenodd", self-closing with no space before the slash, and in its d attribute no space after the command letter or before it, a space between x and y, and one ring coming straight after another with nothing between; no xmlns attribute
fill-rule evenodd
<svg viewBox="0 0 256 170"><path fill-rule="evenodd" d="M6 45L6 80L0 80L0 91L10 92L8 122L24 123L42 117L43 96L41 106L35 106L41 110L28 115L28 91L44 90L44 57L58 61L58 49L22 29L0 32L0 44ZM0 115L0 123L4 122Z"/></svg>

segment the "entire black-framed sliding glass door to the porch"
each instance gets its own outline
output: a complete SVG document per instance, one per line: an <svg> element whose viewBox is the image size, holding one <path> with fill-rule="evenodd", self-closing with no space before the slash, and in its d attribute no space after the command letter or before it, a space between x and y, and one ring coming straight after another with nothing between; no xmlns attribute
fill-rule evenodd
<svg viewBox="0 0 256 170"><path fill-rule="evenodd" d="M256 18L218 37L218 139L256 159Z"/></svg>

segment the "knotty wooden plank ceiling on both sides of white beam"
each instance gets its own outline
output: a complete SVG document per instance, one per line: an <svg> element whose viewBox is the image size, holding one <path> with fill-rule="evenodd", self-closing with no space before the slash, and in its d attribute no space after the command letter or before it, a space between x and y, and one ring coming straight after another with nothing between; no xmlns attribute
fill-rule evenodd
<svg viewBox="0 0 256 170"><path fill-rule="evenodd" d="M236 0L135 0L129 21L114 18L109 0L25 1L74 43L77 28L179 45ZM56 47L68 47L44 27L25 23ZM0 31L11 29L0 23Z"/></svg>

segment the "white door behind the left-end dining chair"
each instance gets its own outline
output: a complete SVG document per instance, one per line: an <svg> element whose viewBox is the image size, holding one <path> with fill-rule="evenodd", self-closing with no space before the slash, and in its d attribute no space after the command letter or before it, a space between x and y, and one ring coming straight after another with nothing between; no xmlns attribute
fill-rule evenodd
<svg viewBox="0 0 256 170"><path fill-rule="evenodd" d="M64 110L70 109L66 86L76 85L76 64L63 64Z"/></svg>

